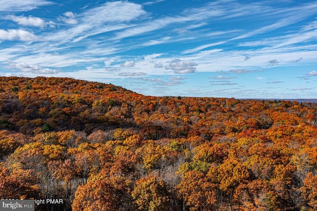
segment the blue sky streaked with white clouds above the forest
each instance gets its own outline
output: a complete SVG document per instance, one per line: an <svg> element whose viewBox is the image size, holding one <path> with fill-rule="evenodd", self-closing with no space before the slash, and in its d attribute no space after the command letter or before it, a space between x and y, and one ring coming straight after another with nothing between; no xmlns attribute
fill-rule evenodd
<svg viewBox="0 0 317 211"><path fill-rule="evenodd" d="M1 0L0 75L317 98L315 0Z"/></svg>

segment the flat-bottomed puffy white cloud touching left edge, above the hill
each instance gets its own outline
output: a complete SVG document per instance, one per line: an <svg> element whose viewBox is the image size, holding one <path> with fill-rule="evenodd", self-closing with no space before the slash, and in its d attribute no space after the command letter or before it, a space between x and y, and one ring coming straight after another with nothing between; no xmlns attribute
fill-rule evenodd
<svg viewBox="0 0 317 211"><path fill-rule="evenodd" d="M0 29L0 40L36 41L37 37L23 29L9 29L7 31Z"/></svg>

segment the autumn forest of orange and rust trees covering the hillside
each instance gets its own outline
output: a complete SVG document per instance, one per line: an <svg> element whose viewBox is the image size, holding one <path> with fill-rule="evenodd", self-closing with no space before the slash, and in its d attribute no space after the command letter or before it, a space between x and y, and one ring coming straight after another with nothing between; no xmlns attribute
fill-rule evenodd
<svg viewBox="0 0 317 211"><path fill-rule="evenodd" d="M0 200L37 211L316 211L317 104L0 77Z"/></svg>

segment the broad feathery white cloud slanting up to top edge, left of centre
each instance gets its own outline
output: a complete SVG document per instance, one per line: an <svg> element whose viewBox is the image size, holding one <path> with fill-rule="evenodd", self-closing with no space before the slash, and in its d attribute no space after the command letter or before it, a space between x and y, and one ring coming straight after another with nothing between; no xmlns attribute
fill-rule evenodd
<svg viewBox="0 0 317 211"><path fill-rule="evenodd" d="M144 18L146 14L147 12L142 9L140 4L127 1L106 2L76 15L72 12L64 13L59 17L60 21L68 20L68 24L72 25L78 21L78 24L67 30L48 34L45 38L54 41L55 45L80 42L90 36L129 28L133 26L128 24L130 21L140 16ZM70 18L73 16L76 16L76 19ZM104 42L103 44L108 50L112 43Z"/></svg>

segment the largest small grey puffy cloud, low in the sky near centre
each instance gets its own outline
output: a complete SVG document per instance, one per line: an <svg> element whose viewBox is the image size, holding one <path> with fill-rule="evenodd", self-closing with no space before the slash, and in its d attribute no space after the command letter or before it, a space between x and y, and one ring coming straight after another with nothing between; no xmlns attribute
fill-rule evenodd
<svg viewBox="0 0 317 211"><path fill-rule="evenodd" d="M172 59L165 69L174 70L176 74L187 74L196 72L198 64L193 61L182 61L180 59Z"/></svg>

